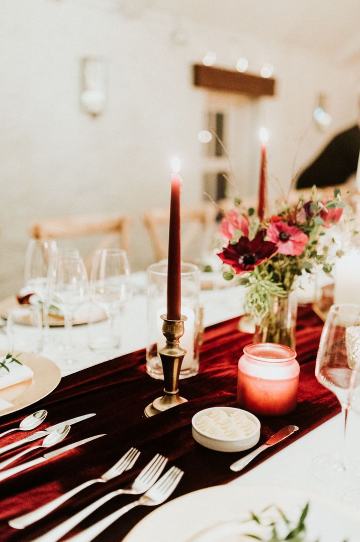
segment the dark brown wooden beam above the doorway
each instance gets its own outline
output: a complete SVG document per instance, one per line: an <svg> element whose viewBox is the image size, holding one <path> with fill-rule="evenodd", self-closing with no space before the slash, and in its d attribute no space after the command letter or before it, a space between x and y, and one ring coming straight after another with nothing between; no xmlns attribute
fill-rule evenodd
<svg viewBox="0 0 360 542"><path fill-rule="evenodd" d="M213 68L203 64L194 64L194 85L257 97L273 96L275 93L275 80L272 78Z"/></svg>

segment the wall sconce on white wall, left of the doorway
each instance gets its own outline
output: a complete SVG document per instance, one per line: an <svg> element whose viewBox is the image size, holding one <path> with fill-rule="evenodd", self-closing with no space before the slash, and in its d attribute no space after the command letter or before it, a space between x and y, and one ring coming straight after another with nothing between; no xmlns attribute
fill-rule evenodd
<svg viewBox="0 0 360 542"><path fill-rule="evenodd" d="M93 117L97 117L104 111L105 86L106 66L103 59L96 57L82 59L80 101L83 110Z"/></svg>

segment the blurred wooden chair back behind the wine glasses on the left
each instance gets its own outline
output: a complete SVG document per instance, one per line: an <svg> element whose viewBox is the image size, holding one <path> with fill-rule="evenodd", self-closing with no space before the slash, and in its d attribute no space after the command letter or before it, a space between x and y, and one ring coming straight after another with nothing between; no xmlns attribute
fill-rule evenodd
<svg viewBox="0 0 360 542"><path fill-rule="evenodd" d="M104 236L94 250L121 246L128 252L130 223L131 218L121 213L49 218L32 223L30 236L36 239L55 240L91 235ZM94 250L85 259L87 268L90 267Z"/></svg>

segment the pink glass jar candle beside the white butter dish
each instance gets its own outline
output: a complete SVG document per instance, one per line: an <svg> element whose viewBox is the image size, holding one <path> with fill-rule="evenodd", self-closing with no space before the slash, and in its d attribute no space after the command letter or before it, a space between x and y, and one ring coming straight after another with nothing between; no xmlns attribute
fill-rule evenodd
<svg viewBox="0 0 360 542"><path fill-rule="evenodd" d="M300 367L289 346L255 343L239 359L238 403L253 414L291 412L296 407Z"/></svg>

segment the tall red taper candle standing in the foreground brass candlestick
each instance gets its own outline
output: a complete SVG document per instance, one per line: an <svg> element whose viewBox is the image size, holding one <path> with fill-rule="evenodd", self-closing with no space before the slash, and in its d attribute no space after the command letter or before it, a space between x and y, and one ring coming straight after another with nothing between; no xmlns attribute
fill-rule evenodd
<svg viewBox="0 0 360 542"><path fill-rule="evenodd" d="M182 180L171 176L171 201L169 222L169 249L167 263L167 319L181 317L181 251L180 251L180 194Z"/></svg>

